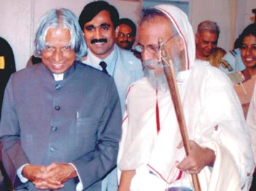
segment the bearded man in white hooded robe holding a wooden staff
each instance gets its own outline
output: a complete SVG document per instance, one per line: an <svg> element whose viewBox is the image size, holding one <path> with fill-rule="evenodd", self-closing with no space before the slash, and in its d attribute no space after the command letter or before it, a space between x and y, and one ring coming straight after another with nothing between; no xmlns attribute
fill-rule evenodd
<svg viewBox="0 0 256 191"><path fill-rule="evenodd" d="M163 72L159 39L174 63L191 151L185 156ZM248 190L253 159L249 130L228 77L195 61L193 29L182 10L159 5L144 11L136 51L145 77L128 89L120 142L120 191Z"/></svg>

